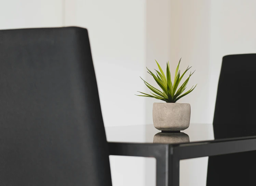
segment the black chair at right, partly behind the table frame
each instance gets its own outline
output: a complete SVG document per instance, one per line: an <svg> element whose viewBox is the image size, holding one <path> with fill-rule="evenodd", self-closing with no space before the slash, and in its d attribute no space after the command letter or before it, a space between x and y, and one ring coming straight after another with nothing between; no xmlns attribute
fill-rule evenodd
<svg viewBox="0 0 256 186"><path fill-rule="evenodd" d="M213 121L215 139L256 135L255 82L256 54L223 57ZM209 157L206 185L255 185L255 167L255 151Z"/></svg>

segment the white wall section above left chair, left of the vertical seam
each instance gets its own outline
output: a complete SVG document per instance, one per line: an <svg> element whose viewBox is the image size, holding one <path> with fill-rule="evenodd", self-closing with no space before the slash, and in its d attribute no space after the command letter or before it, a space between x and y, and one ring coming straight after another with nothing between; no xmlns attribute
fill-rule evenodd
<svg viewBox="0 0 256 186"><path fill-rule="evenodd" d="M0 0L0 29L62 25L62 0Z"/></svg>

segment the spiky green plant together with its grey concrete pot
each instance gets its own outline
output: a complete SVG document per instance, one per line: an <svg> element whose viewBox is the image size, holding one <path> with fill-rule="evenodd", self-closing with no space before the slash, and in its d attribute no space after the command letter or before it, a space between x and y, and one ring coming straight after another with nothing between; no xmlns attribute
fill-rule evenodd
<svg viewBox="0 0 256 186"><path fill-rule="evenodd" d="M190 90L183 93L186 89L190 76L192 76L194 72L192 74L190 72L189 77L179 87L181 79L186 74L186 72L191 68L191 67L188 67L185 70L185 72L180 75L180 71L179 71L180 61L181 61L181 58L176 68L173 82L171 78L169 61L166 64L167 66L166 76L157 61L156 62L160 72L155 70L156 75L147 68L148 73L154 78L154 80L157 82L157 84L162 90L159 90L153 87L152 85L150 85L149 83L147 83L145 80L142 79L146 84L146 86L152 92L150 92L151 94L139 92L144 95L138 95L138 96L152 97L152 98L160 99L166 102L166 103L153 103L154 127L162 131L180 131L180 130L185 130L186 128L189 127L190 104L176 103L176 102L180 98L192 92L197 85L195 87L193 86Z"/></svg>

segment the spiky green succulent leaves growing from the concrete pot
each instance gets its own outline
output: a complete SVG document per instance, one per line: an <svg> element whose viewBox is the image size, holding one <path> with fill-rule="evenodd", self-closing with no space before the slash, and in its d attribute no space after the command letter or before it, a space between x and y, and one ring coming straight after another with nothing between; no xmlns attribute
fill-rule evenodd
<svg viewBox="0 0 256 186"><path fill-rule="evenodd" d="M181 61L181 58L179 60L179 64L180 64L180 61ZM143 92L139 92L139 93L142 93L144 95L137 95L137 96L153 97L153 98L156 98L156 99L161 99L161 100L165 101L166 103L176 103L177 100L179 100L181 97L184 97L185 95L192 92L194 90L194 88L196 88L197 85L192 86L192 88L190 90L188 90L187 92L182 94L186 89L186 86L188 84L190 76L192 76L192 74L194 72L192 74L190 72L189 77L178 88L181 79L186 74L186 72L191 68L191 67L188 66L186 71L182 75L180 75L179 64L178 64L178 66L176 68L176 71L175 71L175 76L174 76L173 83L172 83L172 80L171 80L171 72L170 72L169 61L166 64L166 66L167 66L166 67L166 76L165 76L161 66L158 64L158 62L157 62L157 65L158 65L158 68L159 68L160 72L155 69L156 75L154 75L154 73L152 73L147 68L148 73L154 78L154 80L157 82L157 84L162 89L162 91L153 87L152 85L150 85L149 83L147 83L144 79L142 79L140 77L144 81L146 86L152 91L152 92L150 92L152 95L146 94L146 93L143 93Z"/></svg>

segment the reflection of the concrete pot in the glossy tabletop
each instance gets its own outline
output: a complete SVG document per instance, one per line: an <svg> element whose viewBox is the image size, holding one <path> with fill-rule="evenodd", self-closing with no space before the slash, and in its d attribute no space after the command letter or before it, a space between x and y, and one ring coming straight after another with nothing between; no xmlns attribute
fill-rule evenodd
<svg viewBox="0 0 256 186"><path fill-rule="evenodd" d="M157 133L153 143L187 143L189 136L185 133Z"/></svg>

